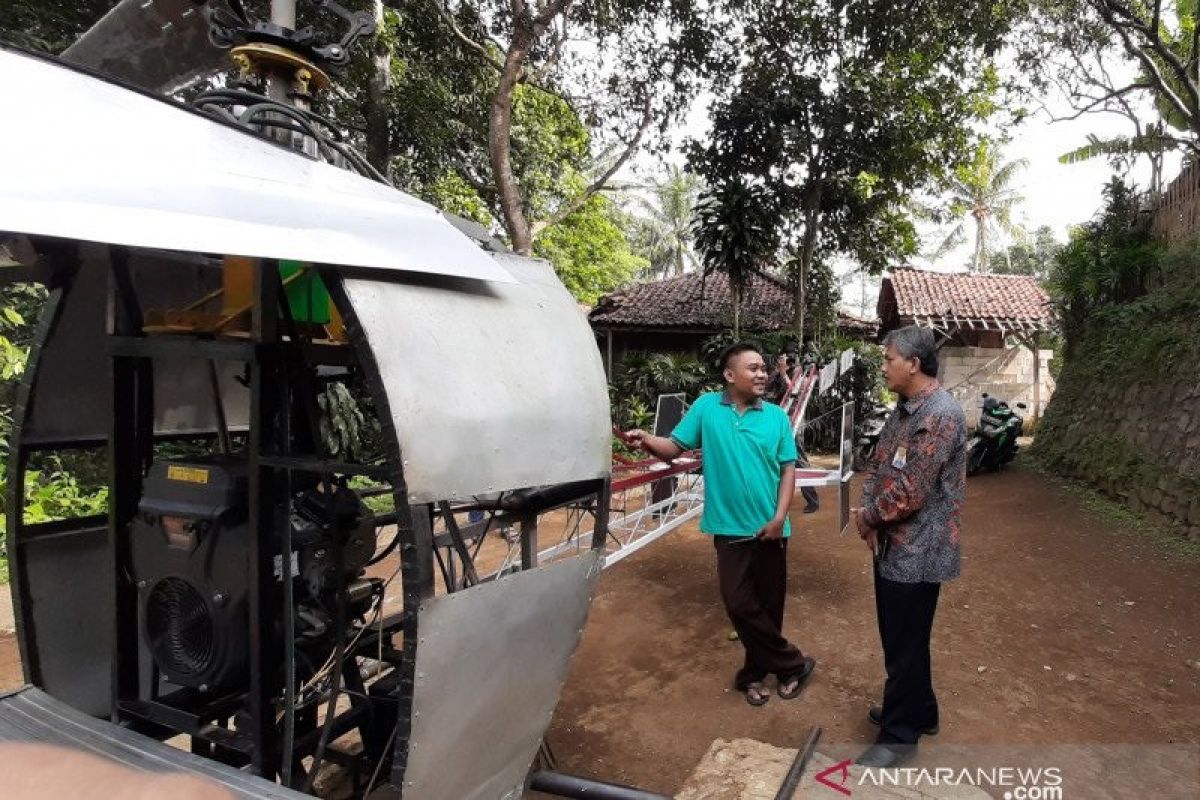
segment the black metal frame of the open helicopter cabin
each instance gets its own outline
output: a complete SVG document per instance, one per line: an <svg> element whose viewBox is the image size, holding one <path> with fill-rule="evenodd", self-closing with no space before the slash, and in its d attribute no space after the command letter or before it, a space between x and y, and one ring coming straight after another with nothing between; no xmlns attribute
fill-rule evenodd
<svg viewBox="0 0 1200 800"><path fill-rule="evenodd" d="M602 548L607 537L608 481L598 479L576 491L560 491L558 494L551 493L548 499L538 497L527 503L505 494L502 497L503 504L484 509L484 522L460 527L454 515L470 506L409 503L394 409L389 404L371 343L336 269L314 266L346 325L348 345L314 345L296 341L295 326L287 319L288 314L277 311L286 299L278 281L277 261L274 260L258 261L254 272L248 341L146 336L142 330L143 308L130 270L128 251L108 247L104 264L103 246L56 240L38 240L37 245L43 253L42 266L50 267L44 270L49 276L49 295L37 323L26 371L18 389L13 409L12 453L7 465L7 542L17 638L25 680L43 685L23 548L32 541L50 546L50 540L84 533L95 535L107 528L106 558L114 570L112 696L108 703L112 721L155 738L188 734L196 753L248 768L269 780L282 778L284 784L299 788L312 777L300 766L301 758L319 752L330 760L347 763L347 754L334 750L330 742L355 727L360 728L366 741L367 729L364 726L372 716L371 709L386 706L389 716L395 712L396 724L382 734L371 734L374 736L373 747L365 748L356 757L355 771L364 768L362 772L373 776L372 782L374 776L379 776L380 782L390 783L390 789L402 796L410 757L416 656L421 634L420 607L442 589L434 561L436 558L440 559L438 549L444 548L450 557L449 575L445 566L442 572L444 589L464 589L480 581L474 571L474 558L485 534L493 522L504 521L516 525L522 534L520 569L534 569L538 566L538 515L565 505L582 506L595 517L592 547ZM84 247L89 249L85 251ZM44 350L59 327L65 303L82 267L107 269L109 273L104 297L108 309L108 390L113 404L108 438L107 443L96 438L42 441L30 425L38 375L44 365ZM292 337L286 333L292 333ZM139 663L144 658L139 655L144 646L140 642L139 595L131 569L128 531L137 515L154 445L176 439L214 440L211 433L204 432L156 434L154 431L155 362L175 359L194 360L197 368L205 368L214 360L241 362L250 368L250 426L242 435L251 486L248 524L257 535L248 540L250 681L248 691L244 693L214 693L212 697L202 694L199 699L197 692L191 692L188 697L185 697L187 692L158 697L157 672L152 670L150 682L146 682L145 664ZM383 434L384 453L380 464L343 463L320 452L290 452L289 443L293 437L288 426L292 409L298 408L292 398L293 392L299 389L296 365L310 371L318 365L356 369L374 405ZM97 363L96 368L104 367ZM306 387L312 389L311 385ZM106 517L42 524L24 522L23 482L32 455L58 449L100 447L106 444L110 489L109 512ZM281 624L290 627L293 622L289 616L294 614L294 607L286 602L281 582L275 581L274 561L281 555L278 542L287 542L287 537L277 537L276 531L289 524L292 479L299 474L326 481L335 474L368 476L379 483L370 493L390 493L395 503L395 511L382 516L378 524L386 522L396 525L395 541L386 549L394 549L400 555L402 612L382 618L378 631L372 625L370 630L362 631L353 648L346 648L344 658L334 669L329 692L334 696L330 699L336 699L336 694L344 691L350 697L352 706L330 718L328 727L318 726L316 706L299 704L301 698L295 697L294 690L288 691L284 675L294 672L294 657L289 663L288 654L284 652L288 638L274 633ZM434 525L438 527L437 535ZM448 581L448 577L451 579ZM398 646L391 643L395 633L402 637ZM341 640L344 644L346 639ZM391 675L395 690L385 697L372 696L368 699L366 686L359 675L359 664L360 658L374 657L377 648L384 652L384 662L394 668ZM344 690L340 688L342 685ZM289 697L290 709L287 708ZM188 700L191 705L184 700ZM277 722L281 708L283 723ZM236 729L230 724L234 720L238 722ZM384 736L386 742L380 741ZM290 752L284 753L284 744L289 741ZM388 760L391 764L390 775L380 775Z"/></svg>

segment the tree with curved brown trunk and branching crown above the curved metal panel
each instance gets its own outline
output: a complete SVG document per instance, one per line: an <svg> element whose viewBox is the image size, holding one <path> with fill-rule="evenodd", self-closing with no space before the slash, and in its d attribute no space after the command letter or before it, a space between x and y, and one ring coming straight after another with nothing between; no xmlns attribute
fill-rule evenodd
<svg viewBox="0 0 1200 800"><path fill-rule="evenodd" d="M488 172L474 185L494 197L497 219L522 254L532 252L541 230L604 190L655 124L666 130L715 56L710 22L691 0L422 2L457 40L458 52L485 70L486 137L473 144L486 152ZM412 4L389 0L388 5L404 10ZM572 47L576 41L593 47ZM592 52L594 56L587 55ZM586 94L570 96L569 88ZM593 181L552 207L530 207L517 166L514 132L523 90L569 101L596 132L620 143Z"/></svg>

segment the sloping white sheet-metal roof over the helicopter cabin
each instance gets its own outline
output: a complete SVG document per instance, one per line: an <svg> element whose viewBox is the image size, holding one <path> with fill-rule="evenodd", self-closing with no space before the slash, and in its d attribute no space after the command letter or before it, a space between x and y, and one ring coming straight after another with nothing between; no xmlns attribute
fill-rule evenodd
<svg viewBox="0 0 1200 800"><path fill-rule="evenodd" d="M0 230L511 279L427 203L178 103L2 47L0 86Z"/></svg>

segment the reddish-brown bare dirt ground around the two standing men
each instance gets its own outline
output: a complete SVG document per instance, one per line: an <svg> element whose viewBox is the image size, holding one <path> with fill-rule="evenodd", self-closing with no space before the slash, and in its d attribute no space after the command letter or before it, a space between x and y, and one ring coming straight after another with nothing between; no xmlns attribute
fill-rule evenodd
<svg viewBox="0 0 1200 800"><path fill-rule="evenodd" d="M799 498L797 498L799 500ZM788 636L818 664L799 699L730 691L740 645L695 524L601 577L548 740L563 771L674 793L714 739L868 744L881 691L869 554L836 504L793 517ZM1164 553L1025 469L968 485L962 577L934 632L938 744L1200 744L1200 560ZM0 690L20 682L0 634Z"/></svg>

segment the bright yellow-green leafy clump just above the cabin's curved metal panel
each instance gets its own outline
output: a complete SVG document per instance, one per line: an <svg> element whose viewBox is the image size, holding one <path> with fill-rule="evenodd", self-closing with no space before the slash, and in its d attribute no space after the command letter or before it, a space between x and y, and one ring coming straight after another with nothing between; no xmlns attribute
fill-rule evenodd
<svg viewBox="0 0 1200 800"><path fill-rule="evenodd" d="M648 265L630 249L622 223L616 204L593 194L583 207L534 240L534 255L553 264L559 279L580 302L595 305Z"/></svg>

